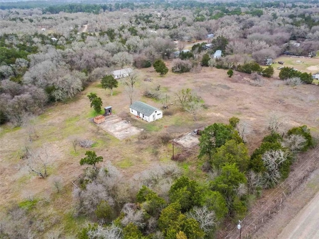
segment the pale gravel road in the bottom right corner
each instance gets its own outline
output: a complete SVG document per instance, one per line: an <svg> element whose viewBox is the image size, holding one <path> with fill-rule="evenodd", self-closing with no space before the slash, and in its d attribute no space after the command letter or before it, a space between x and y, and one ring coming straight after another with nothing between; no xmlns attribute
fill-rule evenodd
<svg viewBox="0 0 319 239"><path fill-rule="evenodd" d="M278 239L319 238L319 193L278 236Z"/></svg>

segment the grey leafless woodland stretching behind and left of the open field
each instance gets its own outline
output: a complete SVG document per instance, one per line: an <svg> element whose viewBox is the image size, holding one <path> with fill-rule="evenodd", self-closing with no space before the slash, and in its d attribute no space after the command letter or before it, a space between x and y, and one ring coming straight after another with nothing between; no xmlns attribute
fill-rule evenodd
<svg viewBox="0 0 319 239"><path fill-rule="evenodd" d="M196 14L194 9L155 11L152 7L100 14L50 14L40 8L0 10L3 47L20 50L22 44L37 52L16 58L14 64L1 62L1 121L19 125L24 115L36 114L49 101L73 97L109 68L133 63L147 67L159 58L170 58L176 50L173 40L204 40L212 32L215 37L224 36L228 39L228 56L221 61L226 66L246 63L250 55L263 63L283 52L316 52L319 26L295 24L292 15L304 14L317 22L315 13L319 8L292 8L286 4L282 9L263 9L261 16L235 14L217 19L209 19L211 13L204 8ZM241 7L242 12L248 10ZM291 39L301 44L291 43ZM184 46L178 44L178 50ZM190 65L186 63L188 71ZM175 65L180 71L181 67ZM127 91L131 94L132 89L128 87Z"/></svg>

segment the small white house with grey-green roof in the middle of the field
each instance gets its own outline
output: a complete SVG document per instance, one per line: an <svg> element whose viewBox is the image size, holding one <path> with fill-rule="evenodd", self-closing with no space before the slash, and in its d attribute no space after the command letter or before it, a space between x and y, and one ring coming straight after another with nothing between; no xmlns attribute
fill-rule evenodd
<svg viewBox="0 0 319 239"><path fill-rule="evenodd" d="M130 113L148 122L163 118L160 109L141 101L136 101L130 106Z"/></svg>

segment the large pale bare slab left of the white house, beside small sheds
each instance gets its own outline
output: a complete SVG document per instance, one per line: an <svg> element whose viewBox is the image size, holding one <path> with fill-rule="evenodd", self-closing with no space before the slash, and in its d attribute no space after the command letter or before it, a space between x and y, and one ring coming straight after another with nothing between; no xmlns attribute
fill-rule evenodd
<svg viewBox="0 0 319 239"><path fill-rule="evenodd" d="M105 122L97 124L97 126L102 127L105 131L113 134L118 139L125 139L142 131L142 129L131 125L130 122L114 115L107 116Z"/></svg>

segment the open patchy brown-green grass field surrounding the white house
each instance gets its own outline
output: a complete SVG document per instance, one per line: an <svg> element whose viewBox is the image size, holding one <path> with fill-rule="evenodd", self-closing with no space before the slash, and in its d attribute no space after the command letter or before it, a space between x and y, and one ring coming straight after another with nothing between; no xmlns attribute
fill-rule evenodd
<svg viewBox="0 0 319 239"><path fill-rule="evenodd" d="M288 59L290 58L283 57L276 61L283 60L284 66L289 66ZM294 60L295 58L291 59L292 63ZM316 65L316 59L309 60L313 61L313 66ZM166 63L169 68L170 63ZM300 66L303 69L311 66L310 63L302 64ZM152 82L144 81L146 78L152 78ZM92 149L97 155L104 157L104 162L99 166L103 167L107 161L111 161L129 179L153 163L170 161L172 146L170 143L162 143L163 135L176 138L199 126L214 122L227 123L232 116L249 124L250 152L259 146L267 121L272 115L277 115L287 128L307 124L313 133L319 133L319 87L301 85L293 88L274 79L265 79L263 87L255 87L249 83L250 76L247 74L235 72L229 78L226 70L215 68L203 68L200 73L181 75L169 72L164 77L160 77L153 68L147 68L139 70L135 100L161 107L160 102L143 97L145 89L155 89L160 85L162 92L169 96L169 109L164 111L163 119L151 123L136 119L129 114L130 99L122 84L115 91L116 94L110 96L109 91L103 90L99 82L95 82L81 92L76 100L52 105L42 115L35 117L33 126L38 137L33 135L32 141L29 141L26 127L1 126L1 212L6 212L12 205L20 204L30 208L34 216L42 215L40 218L43 225L39 238L46 237L53 229L61 232L63 238L72 238L87 223L85 218L73 216L71 184L85 168L80 166L79 161L87 149L78 147L77 152L74 152L72 137L95 141ZM205 109L199 111L197 121L187 112L179 110L175 93L185 88L191 88L204 102ZM103 107L112 106L117 116L130 120L134 126L143 128L144 132L119 140L94 125L88 120L96 115L87 98L90 92L95 92L102 98ZM48 178L43 180L29 172L27 162L20 158L25 147L49 155ZM175 148L176 153L186 150L177 145ZM178 163L191 178L203 176L200 170L203 162L198 161L197 150L195 147L186 161ZM64 187L60 193L52 187L50 178L54 176L62 179Z"/></svg>

